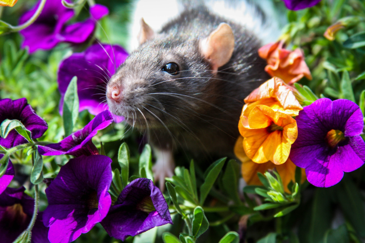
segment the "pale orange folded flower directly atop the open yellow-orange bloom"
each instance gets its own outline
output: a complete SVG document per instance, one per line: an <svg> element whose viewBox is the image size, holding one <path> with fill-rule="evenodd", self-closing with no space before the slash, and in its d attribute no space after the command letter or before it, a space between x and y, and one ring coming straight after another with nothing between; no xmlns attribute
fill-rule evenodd
<svg viewBox="0 0 365 243"><path fill-rule="evenodd" d="M246 105L242 109L241 116L248 117L256 105L266 105L274 111L281 111L289 116L297 116L303 109L296 99L298 91L284 83L278 77L273 77L253 90L245 98Z"/></svg>

